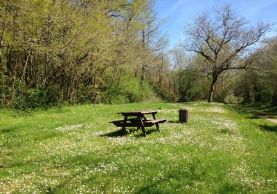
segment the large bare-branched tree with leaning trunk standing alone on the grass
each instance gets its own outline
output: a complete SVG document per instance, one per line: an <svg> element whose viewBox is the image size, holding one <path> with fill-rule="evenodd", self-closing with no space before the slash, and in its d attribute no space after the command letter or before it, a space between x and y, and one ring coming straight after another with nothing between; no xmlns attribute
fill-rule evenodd
<svg viewBox="0 0 277 194"><path fill-rule="evenodd" d="M208 65L208 76L211 76L211 87L208 102L213 101L215 85L221 73L232 69L247 69L249 60L237 62L243 55L251 55L251 47L263 42L265 33L271 29L271 24L257 21L251 26L225 5L211 12L199 15L193 24L186 26L186 39L181 46L186 51L201 55Z"/></svg>

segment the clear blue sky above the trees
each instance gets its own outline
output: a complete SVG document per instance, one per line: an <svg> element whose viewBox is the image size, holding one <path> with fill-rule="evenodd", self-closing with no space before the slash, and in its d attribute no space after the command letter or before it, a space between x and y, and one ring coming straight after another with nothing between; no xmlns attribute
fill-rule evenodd
<svg viewBox="0 0 277 194"><path fill-rule="evenodd" d="M154 8L157 16L166 19L161 31L168 33L169 47L179 43L185 24L193 21L202 12L225 3L231 4L238 15L250 22L254 23L257 19L277 22L277 0L156 0Z"/></svg>

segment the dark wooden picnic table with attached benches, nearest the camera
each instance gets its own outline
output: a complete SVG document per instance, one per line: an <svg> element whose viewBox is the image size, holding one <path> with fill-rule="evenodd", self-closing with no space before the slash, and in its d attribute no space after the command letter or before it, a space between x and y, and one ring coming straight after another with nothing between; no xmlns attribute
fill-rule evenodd
<svg viewBox="0 0 277 194"><path fill-rule="evenodd" d="M157 119L155 116L157 113L157 111L118 112L118 114L122 114L124 116L124 119L119 121L111 121L109 123L114 123L116 127L122 127L124 133L126 133L126 127L137 127L138 130L141 127L143 136L146 136L145 127L152 127L153 125L156 125L157 130L160 131L159 123L166 122L166 118ZM146 118L146 114L151 114L153 119Z"/></svg>

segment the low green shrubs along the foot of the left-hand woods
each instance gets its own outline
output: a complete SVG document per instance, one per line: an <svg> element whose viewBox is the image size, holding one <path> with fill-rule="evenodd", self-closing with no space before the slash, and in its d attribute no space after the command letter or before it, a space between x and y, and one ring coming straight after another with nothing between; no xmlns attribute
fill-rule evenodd
<svg viewBox="0 0 277 194"><path fill-rule="evenodd" d="M123 76L118 82L105 78L104 84L98 88L81 85L75 94L75 101L64 100L62 91L58 87L28 88L24 83L16 80L12 89L6 76L2 76L0 81L1 107L16 109L46 108L62 103L134 103L152 99L155 96L147 81L141 82L132 76Z"/></svg>

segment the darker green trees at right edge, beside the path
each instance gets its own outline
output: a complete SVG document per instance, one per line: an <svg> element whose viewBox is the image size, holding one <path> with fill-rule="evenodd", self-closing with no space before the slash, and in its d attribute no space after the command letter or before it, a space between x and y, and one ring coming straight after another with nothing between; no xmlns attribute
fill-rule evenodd
<svg viewBox="0 0 277 194"><path fill-rule="evenodd" d="M277 105L277 39L259 48L255 53L252 67L235 82L235 96L244 98L244 103Z"/></svg>

